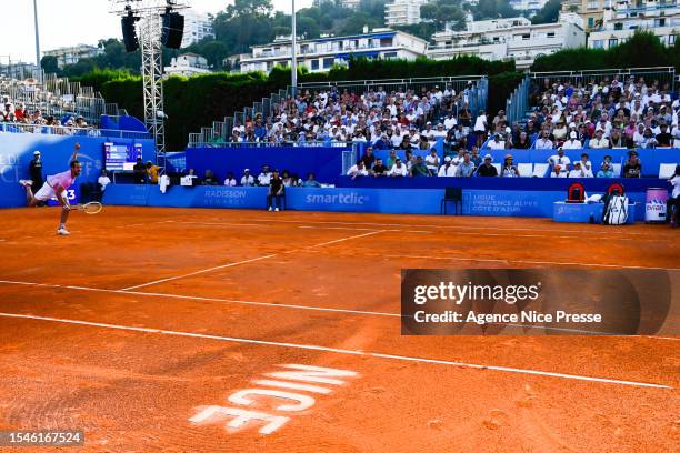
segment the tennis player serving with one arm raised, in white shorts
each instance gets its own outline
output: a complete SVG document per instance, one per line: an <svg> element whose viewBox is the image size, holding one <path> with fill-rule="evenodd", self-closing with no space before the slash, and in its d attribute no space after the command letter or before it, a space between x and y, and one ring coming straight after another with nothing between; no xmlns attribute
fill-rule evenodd
<svg viewBox="0 0 680 453"><path fill-rule="evenodd" d="M57 234L59 235L69 235L69 231L66 229L67 220L69 219L69 211L71 210L71 205L69 204L68 192L67 190L73 184L76 178L80 175L82 171L80 162L78 162L78 150L80 149L80 143L76 143L73 149L73 155L71 157L71 168L61 173L53 174L47 178L42 188L33 195L31 191L31 185L33 181L31 180L21 180L19 183L23 185L26 189L26 199L28 201L29 207L36 207L41 201L48 201L53 197L57 197L57 201L61 204L61 220L59 222L59 230L57 230Z"/></svg>

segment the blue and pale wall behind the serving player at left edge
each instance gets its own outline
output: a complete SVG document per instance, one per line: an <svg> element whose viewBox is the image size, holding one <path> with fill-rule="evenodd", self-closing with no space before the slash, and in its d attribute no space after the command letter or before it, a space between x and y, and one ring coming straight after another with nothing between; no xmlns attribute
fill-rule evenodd
<svg viewBox="0 0 680 453"><path fill-rule="evenodd" d="M154 160L153 140L119 139L107 137L64 137L30 133L0 133L0 208L16 208L26 204L26 192L19 185L20 179L29 178L29 162L33 152L40 151L44 175L54 174L69 168L73 145L81 145L78 160L82 162L82 174L77 183L96 182L103 165L103 143L142 143L144 160Z"/></svg>

